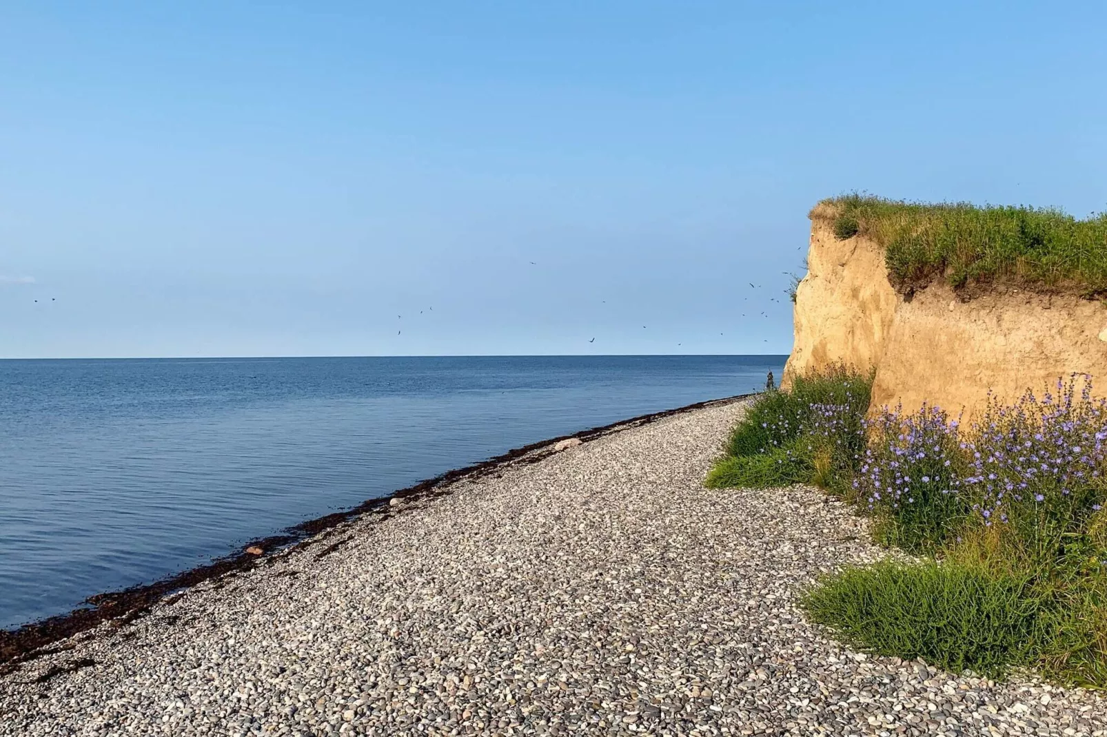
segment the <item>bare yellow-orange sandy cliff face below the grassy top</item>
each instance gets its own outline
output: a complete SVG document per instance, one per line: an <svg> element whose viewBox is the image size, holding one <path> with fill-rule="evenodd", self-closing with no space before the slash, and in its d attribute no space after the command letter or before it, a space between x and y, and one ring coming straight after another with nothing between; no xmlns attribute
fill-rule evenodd
<svg viewBox="0 0 1107 737"><path fill-rule="evenodd" d="M912 299L891 288L883 249L837 240L814 219L809 271L796 294L795 344L785 367L797 372L845 362L877 370L872 408L923 402L971 419L991 388L1000 398L1041 393L1072 372L1098 380L1107 396L1107 310L1074 295L997 290L962 302L944 283Z"/></svg>

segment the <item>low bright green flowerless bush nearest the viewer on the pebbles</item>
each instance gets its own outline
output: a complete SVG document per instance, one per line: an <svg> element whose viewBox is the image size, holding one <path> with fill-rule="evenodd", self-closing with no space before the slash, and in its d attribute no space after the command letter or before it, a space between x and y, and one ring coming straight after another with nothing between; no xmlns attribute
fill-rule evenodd
<svg viewBox="0 0 1107 737"><path fill-rule="evenodd" d="M848 568L821 579L800 604L850 645L953 673L997 678L1033 664L1043 644L1043 601L1025 577L953 562Z"/></svg>

